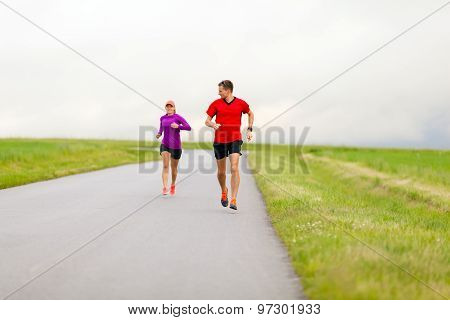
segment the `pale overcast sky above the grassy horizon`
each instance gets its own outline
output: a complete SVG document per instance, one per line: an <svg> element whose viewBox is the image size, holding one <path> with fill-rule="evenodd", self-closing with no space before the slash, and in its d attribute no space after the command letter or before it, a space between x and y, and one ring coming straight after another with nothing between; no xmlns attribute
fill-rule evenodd
<svg viewBox="0 0 450 320"><path fill-rule="evenodd" d="M445 0L5 3L158 105L175 100L195 138L219 81L262 126ZM0 137L137 139L159 124L162 111L1 3L0 33ZM265 129L450 148L449 57L450 5Z"/></svg>

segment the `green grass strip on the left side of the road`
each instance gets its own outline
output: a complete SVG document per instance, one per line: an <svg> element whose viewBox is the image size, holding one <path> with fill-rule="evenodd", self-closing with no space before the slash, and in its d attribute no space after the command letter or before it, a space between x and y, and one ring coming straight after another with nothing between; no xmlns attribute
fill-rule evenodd
<svg viewBox="0 0 450 320"><path fill-rule="evenodd" d="M150 145L151 146L151 145ZM92 170L159 159L137 141L0 139L0 189Z"/></svg>

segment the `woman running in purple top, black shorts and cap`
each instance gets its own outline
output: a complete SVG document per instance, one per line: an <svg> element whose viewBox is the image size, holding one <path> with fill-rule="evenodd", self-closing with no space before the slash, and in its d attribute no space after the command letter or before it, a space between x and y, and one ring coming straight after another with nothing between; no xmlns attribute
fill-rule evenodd
<svg viewBox="0 0 450 320"><path fill-rule="evenodd" d="M172 184L170 185L170 194L175 194L175 181L178 174L178 161L181 158L181 139L180 130L191 130L191 126L182 116L176 113L175 102L169 100L166 102L166 114L161 117L159 131L156 139L159 139L164 133L164 137L159 148L159 154L163 159L163 195L167 195L169 178L169 163L172 170Z"/></svg>

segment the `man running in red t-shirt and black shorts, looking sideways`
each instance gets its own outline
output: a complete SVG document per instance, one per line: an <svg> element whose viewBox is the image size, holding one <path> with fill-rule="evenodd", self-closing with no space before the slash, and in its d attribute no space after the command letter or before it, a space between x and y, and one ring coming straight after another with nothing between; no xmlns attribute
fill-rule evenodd
<svg viewBox="0 0 450 320"><path fill-rule="evenodd" d="M222 206L228 206L228 188L226 186L226 157L230 159L231 166L231 201L230 208L237 210L236 197L239 189L239 157L241 154L241 117L248 114L247 141L252 139L252 126L254 115L249 105L242 99L233 96L233 83L224 80L219 83L219 96L209 106L205 124L214 128L214 155L217 160L217 179L219 180L222 196ZM216 117L216 122L212 121Z"/></svg>

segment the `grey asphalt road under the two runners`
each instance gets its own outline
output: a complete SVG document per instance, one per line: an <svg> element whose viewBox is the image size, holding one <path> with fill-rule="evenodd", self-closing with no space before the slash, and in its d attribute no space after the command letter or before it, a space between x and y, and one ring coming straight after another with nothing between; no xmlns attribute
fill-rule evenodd
<svg viewBox="0 0 450 320"><path fill-rule="evenodd" d="M213 165L184 151L174 197L160 195L160 162L1 190L0 297L304 298L253 177L233 214Z"/></svg>

